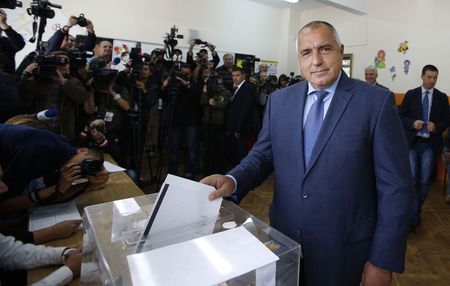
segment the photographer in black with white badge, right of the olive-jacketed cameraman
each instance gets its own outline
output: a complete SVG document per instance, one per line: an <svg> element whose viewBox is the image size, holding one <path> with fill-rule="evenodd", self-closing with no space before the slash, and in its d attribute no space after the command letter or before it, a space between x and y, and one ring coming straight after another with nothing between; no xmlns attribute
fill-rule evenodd
<svg viewBox="0 0 450 286"><path fill-rule="evenodd" d="M121 166L126 165L128 144L128 111L130 98L126 87L116 85L117 71L107 67L101 57L89 64L90 76L93 78L95 117L105 122L106 135L114 152L113 159Z"/></svg>

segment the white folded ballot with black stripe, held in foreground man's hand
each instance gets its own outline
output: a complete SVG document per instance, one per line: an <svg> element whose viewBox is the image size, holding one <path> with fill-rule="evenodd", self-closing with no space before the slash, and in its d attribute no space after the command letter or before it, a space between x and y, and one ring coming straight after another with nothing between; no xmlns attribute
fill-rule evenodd
<svg viewBox="0 0 450 286"><path fill-rule="evenodd" d="M212 219L214 222L222 204L222 198L214 201L208 199L208 195L214 190L213 187L205 184L167 175L149 216L143 239L154 233L173 230L207 219ZM210 233L212 231L213 229Z"/></svg>

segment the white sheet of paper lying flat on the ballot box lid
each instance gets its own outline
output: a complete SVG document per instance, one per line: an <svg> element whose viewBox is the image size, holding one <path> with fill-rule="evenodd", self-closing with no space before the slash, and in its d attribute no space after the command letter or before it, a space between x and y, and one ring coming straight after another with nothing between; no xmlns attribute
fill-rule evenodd
<svg viewBox="0 0 450 286"><path fill-rule="evenodd" d="M238 227L132 254L127 260L134 286L211 286L274 263L278 257Z"/></svg>

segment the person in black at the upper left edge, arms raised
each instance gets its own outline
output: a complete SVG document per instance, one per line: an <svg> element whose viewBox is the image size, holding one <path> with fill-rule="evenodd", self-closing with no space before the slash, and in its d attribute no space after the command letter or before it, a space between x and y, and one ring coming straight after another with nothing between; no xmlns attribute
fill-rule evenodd
<svg viewBox="0 0 450 286"><path fill-rule="evenodd" d="M5 33L7 37L3 37L2 33ZM14 73L16 69L16 61L14 56L18 51L23 49L25 41L22 36L14 31L7 23L7 15L5 10L0 9L0 54L4 54L9 64L4 68L7 73Z"/></svg>

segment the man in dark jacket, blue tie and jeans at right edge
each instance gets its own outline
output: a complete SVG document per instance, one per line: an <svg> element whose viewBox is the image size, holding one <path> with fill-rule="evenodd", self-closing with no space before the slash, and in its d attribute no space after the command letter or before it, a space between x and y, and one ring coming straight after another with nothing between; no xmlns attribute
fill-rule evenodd
<svg viewBox="0 0 450 286"><path fill-rule="evenodd" d="M428 194L435 158L442 151L442 132L449 126L447 95L434 88L438 69L426 65L422 69L422 86L408 90L399 112L410 147L409 161L415 180L410 229L420 225L422 205Z"/></svg>

